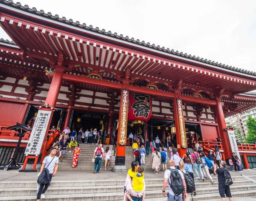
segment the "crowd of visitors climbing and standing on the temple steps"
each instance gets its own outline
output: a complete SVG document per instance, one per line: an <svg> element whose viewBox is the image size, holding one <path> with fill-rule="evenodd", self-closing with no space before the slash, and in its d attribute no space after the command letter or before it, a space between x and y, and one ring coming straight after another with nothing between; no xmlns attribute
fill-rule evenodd
<svg viewBox="0 0 256 201"><path fill-rule="evenodd" d="M101 130L97 132L96 129L91 129L90 131L87 130L83 132L81 128L78 133L76 131L68 133L68 131L70 130L67 127L61 133L59 140L53 144L51 153L44 159L38 176L44 170L44 167L46 167L49 170L49 181L51 181L52 177L55 176L58 169L58 161L62 161L67 148L69 148L70 153L73 148L72 167L76 167L79 155L81 153L79 147L79 144L82 143L81 139L84 139L84 143L94 144L96 142L96 144L99 144L98 147L96 147L94 150L93 154L93 173L99 174L102 160L105 160L105 170L109 168L110 159L112 157L111 150L109 147L106 147L104 150L103 145L100 143ZM86 132L88 133L85 134ZM79 135L79 133L81 133L81 135ZM90 134L93 135L93 138L90 136ZM151 142L148 139L146 139L144 142L140 134L138 136L136 134L133 136L131 133L129 138L135 161L131 163L131 169L128 170L127 178L125 181L124 201L145 200L143 165L145 165L145 157L149 157L150 148L152 150L151 162L152 170L154 170L154 173L158 174L160 172L161 164L163 166L163 196L168 197L168 201L181 201L182 199L184 201L189 201L190 198L187 193L191 193L191 196L197 194L194 179L202 179L202 181L205 181L205 178L209 178L209 182L214 183L211 174L218 174L218 190L221 195L221 200L224 201L226 195L230 201L233 201L232 195L230 193L230 186L227 184L227 176L229 174L226 168L227 164L225 161L222 161L222 155L218 150L218 146L215 147L215 151L210 150L207 157L203 151L203 148L201 147L201 144L196 142L195 147L192 148L192 151L187 149L187 152L181 158L177 152L177 149L172 148L171 146L162 146L162 150L160 151L161 142L158 136L155 140L151 140ZM67 139L70 139L69 143L67 143ZM214 159L216 162L214 162ZM168 169L167 163L169 164ZM229 158L229 164L232 171L242 171L241 161L235 153L233 153L232 158ZM193 170L195 170L196 176L194 176ZM230 174L229 178L231 179ZM169 185L169 190L166 194L165 190L167 185ZM40 184L37 200L44 198L44 193L46 192L48 186L49 184Z"/></svg>

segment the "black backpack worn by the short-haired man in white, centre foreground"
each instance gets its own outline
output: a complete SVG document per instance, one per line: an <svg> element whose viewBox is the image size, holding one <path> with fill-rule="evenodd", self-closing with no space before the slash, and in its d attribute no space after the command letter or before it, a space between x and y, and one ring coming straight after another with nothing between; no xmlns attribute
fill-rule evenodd
<svg viewBox="0 0 256 201"><path fill-rule="evenodd" d="M169 182L169 186L171 187L173 193L175 196L178 196L184 192L184 186L182 183L182 178L181 175L178 171L178 169L169 169L171 171L170 179L171 179L171 184Z"/></svg>

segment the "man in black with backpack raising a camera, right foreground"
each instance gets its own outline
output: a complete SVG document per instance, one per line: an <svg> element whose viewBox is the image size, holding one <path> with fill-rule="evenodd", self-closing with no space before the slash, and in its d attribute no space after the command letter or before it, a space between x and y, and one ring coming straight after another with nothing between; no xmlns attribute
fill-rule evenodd
<svg viewBox="0 0 256 201"><path fill-rule="evenodd" d="M218 174L218 190L221 195L221 201L225 201L225 194L230 201L233 201L230 193L230 185L233 184L229 171L227 170L227 163L225 161L220 162L220 168L217 164L214 166L214 173Z"/></svg>

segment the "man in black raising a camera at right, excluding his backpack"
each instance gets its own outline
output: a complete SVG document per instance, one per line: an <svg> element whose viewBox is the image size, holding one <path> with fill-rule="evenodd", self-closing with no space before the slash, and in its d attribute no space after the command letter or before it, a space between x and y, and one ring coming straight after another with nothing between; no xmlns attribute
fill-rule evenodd
<svg viewBox="0 0 256 201"><path fill-rule="evenodd" d="M225 161L220 162L220 168L215 164L214 173L218 174L218 189L221 195L221 201L225 201L225 194L230 201L233 201L232 195L230 193L230 186L225 185L224 169L226 168L227 163Z"/></svg>

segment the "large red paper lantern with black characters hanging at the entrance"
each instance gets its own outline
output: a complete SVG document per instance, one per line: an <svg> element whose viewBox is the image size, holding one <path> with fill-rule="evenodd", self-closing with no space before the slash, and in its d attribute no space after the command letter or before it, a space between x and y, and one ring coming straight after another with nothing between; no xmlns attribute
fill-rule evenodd
<svg viewBox="0 0 256 201"><path fill-rule="evenodd" d="M129 93L128 120L148 121L152 115L152 98L143 93Z"/></svg>

